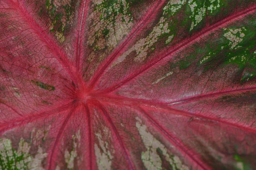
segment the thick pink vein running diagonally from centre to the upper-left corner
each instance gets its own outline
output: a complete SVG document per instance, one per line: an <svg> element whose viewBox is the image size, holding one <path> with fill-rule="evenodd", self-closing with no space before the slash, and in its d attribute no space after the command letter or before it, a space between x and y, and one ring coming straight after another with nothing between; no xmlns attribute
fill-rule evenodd
<svg viewBox="0 0 256 170"><path fill-rule="evenodd" d="M14 3L14 2L11 2ZM38 34L38 36L43 40L47 47L51 49L51 51L55 54L55 58L60 62L64 69L67 71L67 73L70 75L70 78L73 80L73 82L76 82L76 79L74 78L74 71L73 71L73 65L70 65L70 62L68 60L67 54L63 50L61 50L57 43L55 43L46 33L45 31L39 26L39 24L33 19L33 17L30 15L30 13L23 8L24 5L21 4L19 0L17 0L17 3L14 4L14 6L17 6L17 8L20 10L20 12L24 15L27 22L30 24L31 28L35 30Z"/></svg>

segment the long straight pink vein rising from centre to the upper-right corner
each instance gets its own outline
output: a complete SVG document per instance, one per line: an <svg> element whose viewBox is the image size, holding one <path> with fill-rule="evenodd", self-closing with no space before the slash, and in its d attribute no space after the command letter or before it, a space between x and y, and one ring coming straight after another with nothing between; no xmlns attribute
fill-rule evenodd
<svg viewBox="0 0 256 170"><path fill-rule="evenodd" d="M160 62L162 59L172 55L175 52L177 52L178 50L180 50L180 48L182 48L182 47L184 47L186 45L189 45L192 42L195 42L196 40L200 39L201 37L205 36L206 34L209 34L210 31L214 31L214 30L218 29L219 27L221 27L221 26L223 26L223 25L225 25L227 23L231 23L233 21L236 21L238 17L244 17L245 15L252 14L253 12L255 12L255 10L256 10L256 5L250 7L249 9L247 9L245 11L239 12L239 13L233 15L233 16L227 17L224 20L221 20L220 22L210 26L209 28L206 28L206 29L200 31L199 33L195 34L194 36L192 36L188 40L184 40L180 45L177 45L176 47L172 48L170 51L168 51L166 54L164 54L159 59L156 59L155 61L150 62L149 65L146 65L144 68L142 68L137 73L131 75L127 79L124 79L119 84L104 90L103 93L110 93L111 91L116 90L116 88L121 87L125 83L129 82L131 79L134 79L138 75L142 74L144 71L148 70L148 68L151 68L152 66L154 66L157 62Z"/></svg>

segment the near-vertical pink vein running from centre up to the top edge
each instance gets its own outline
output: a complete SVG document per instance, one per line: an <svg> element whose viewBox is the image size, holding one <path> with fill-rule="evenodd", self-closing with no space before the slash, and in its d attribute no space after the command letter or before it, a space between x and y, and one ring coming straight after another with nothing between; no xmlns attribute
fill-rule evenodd
<svg viewBox="0 0 256 170"><path fill-rule="evenodd" d="M80 60L81 60L81 48L84 42L84 39L82 38L82 34L84 33L84 25L86 22L87 12L88 12L88 1L89 0L83 0L82 1L82 8L79 12L79 26L76 34L76 69L79 72L80 71Z"/></svg>

